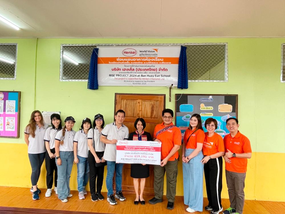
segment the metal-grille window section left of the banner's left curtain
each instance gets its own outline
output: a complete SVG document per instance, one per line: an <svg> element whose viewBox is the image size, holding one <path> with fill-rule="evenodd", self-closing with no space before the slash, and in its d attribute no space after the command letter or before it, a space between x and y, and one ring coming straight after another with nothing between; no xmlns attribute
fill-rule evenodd
<svg viewBox="0 0 285 214"><path fill-rule="evenodd" d="M87 81L95 45L61 45L60 81Z"/></svg>

